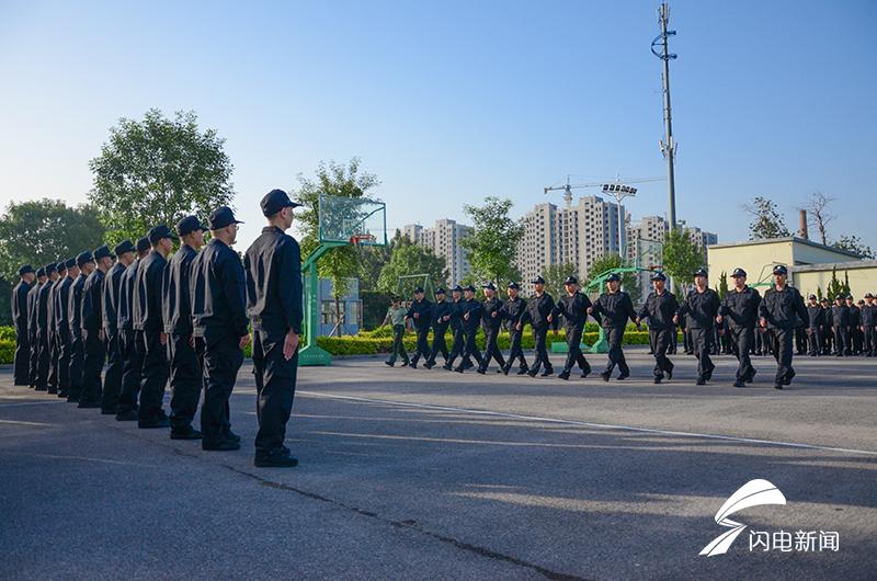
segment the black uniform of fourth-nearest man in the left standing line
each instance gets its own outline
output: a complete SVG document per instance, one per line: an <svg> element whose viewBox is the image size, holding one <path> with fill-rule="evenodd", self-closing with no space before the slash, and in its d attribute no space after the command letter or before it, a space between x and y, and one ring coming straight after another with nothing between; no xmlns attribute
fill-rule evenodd
<svg viewBox="0 0 877 581"><path fill-rule="evenodd" d="M238 261L240 262L240 261ZM162 409L164 385L168 383L168 349L161 344L164 320L161 297L164 293L164 271L168 261L152 249L140 262L134 281L134 330L143 338L144 362L140 368L140 409L138 425L167 422Z"/></svg>

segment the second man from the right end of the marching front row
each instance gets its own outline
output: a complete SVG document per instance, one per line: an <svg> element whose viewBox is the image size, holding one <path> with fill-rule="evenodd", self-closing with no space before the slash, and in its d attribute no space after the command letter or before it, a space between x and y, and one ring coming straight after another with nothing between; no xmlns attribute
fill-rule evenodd
<svg viewBox="0 0 877 581"><path fill-rule="evenodd" d="M737 377L734 387L745 387L755 378L755 367L749 356L755 341L755 327L759 322L759 305L761 295L758 290L747 285L747 271L734 269L733 288L725 297L719 307L716 320L720 323L728 322L734 355L737 355Z"/></svg>

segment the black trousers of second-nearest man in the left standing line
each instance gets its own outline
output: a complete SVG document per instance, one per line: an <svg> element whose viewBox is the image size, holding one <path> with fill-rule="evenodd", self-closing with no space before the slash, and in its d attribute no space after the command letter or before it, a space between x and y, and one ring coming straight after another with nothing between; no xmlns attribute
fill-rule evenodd
<svg viewBox="0 0 877 581"><path fill-rule="evenodd" d="M243 364L243 351L239 338L205 335L196 338L203 342L204 352L204 405L201 408L201 432L207 442L221 440L231 429L228 400L238 371Z"/></svg>

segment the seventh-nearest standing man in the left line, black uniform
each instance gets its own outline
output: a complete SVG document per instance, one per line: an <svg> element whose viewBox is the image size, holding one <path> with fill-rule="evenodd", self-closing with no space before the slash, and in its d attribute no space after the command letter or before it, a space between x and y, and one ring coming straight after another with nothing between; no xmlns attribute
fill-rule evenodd
<svg viewBox="0 0 877 581"><path fill-rule="evenodd" d="M106 360L106 333L103 328L103 285L106 273L113 267L115 255L101 247L94 251L96 267L86 278L82 289L82 338L86 362L82 367L82 397L80 408L100 408L103 401L101 372Z"/></svg>

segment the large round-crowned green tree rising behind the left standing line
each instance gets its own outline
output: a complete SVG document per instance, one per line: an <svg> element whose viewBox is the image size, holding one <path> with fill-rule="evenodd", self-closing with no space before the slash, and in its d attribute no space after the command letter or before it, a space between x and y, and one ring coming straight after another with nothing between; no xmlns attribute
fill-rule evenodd
<svg viewBox="0 0 877 581"><path fill-rule="evenodd" d="M225 139L202 130L194 112L169 119L157 109L143 119L122 118L110 129L94 174L90 202L111 243L136 240L151 227L171 227L183 216L202 219L235 195Z"/></svg>

